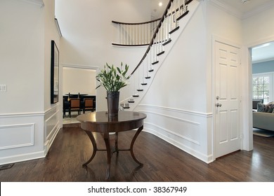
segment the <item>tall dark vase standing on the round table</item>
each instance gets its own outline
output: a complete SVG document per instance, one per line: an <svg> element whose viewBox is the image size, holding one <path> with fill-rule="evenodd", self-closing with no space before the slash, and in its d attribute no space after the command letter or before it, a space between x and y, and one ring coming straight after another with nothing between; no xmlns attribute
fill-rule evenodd
<svg viewBox="0 0 274 196"><path fill-rule="evenodd" d="M107 92L108 116L118 116L120 92Z"/></svg>

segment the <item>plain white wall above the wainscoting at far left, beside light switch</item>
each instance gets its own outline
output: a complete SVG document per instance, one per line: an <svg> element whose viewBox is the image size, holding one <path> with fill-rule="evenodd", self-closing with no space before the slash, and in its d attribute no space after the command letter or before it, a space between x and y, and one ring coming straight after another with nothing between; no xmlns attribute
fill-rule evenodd
<svg viewBox="0 0 274 196"><path fill-rule="evenodd" d="M7 91L0 94L0 113L42 112L44 13L39 6L22 1L0 3L0 80L7 87Z"/></svg>

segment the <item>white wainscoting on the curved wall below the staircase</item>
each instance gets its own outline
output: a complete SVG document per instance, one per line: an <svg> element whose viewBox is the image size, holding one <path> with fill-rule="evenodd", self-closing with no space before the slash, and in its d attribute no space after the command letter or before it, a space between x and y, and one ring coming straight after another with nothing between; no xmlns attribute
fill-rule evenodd
<svg viewBox="0 0 274 196"><path fill-rule="evenodd" d="M208 139L212 113L183 111L162 106L138 105L136 111L145 113L144 131L155 134L190 155L213 161L212 143Z"/></svg>

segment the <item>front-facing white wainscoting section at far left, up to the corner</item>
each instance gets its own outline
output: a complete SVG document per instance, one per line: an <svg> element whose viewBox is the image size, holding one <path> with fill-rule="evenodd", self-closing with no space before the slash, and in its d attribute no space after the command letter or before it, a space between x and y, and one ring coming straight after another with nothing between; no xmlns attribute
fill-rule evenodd
<svg viewBox="0 0 274 196"><path fill-rule="evenodd" d="M43 158L44 113L0 115L0 165Z"/></svg>

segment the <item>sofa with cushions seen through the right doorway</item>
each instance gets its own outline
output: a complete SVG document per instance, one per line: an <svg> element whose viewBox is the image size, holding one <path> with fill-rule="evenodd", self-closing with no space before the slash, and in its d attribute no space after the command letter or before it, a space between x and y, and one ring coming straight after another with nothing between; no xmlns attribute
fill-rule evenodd
<svg viewBox="0 0 274 196"><path fill-rule="evenodd" d="M253 127L274 132L274 102L258 103L257 111L253 112Z"/></svg>

